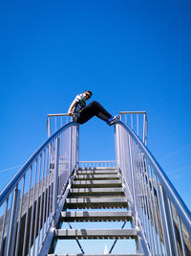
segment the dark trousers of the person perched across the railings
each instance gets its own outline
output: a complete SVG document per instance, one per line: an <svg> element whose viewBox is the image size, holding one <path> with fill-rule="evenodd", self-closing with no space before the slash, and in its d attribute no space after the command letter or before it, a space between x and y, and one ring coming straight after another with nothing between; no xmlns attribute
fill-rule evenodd
<svg viewBox="0 0 191 256"><path fill-rule="evenodd" d="M96 101L86 105L79 113L76 122L79 124L84 124L94 116L97 116L101 120L107 122L109 118L112 117L110 113Z"/></svg>

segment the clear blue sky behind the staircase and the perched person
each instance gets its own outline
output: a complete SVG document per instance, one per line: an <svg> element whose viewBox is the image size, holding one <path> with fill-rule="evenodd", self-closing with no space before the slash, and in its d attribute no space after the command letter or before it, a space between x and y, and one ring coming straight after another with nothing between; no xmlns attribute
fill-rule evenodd
<svg viewBox="0 0 191 256"><path fill-rule="evenodd" d="M191 1L0 2L2 188L77 93L146 110L148 147L191 208ZM115 159L114 128L80 128L80 159ZM9 169L9 170L7 170Z"/></svg>

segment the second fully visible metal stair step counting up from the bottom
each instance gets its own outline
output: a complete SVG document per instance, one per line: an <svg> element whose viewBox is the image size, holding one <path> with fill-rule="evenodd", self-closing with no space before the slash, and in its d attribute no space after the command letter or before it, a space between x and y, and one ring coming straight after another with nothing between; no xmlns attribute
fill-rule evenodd
<svg viewBox="0 0 191 256"><path fill-rule="evenodd" d="M61 212L61 221L131 221L131 211L107 211L107 212Z"/></svg>

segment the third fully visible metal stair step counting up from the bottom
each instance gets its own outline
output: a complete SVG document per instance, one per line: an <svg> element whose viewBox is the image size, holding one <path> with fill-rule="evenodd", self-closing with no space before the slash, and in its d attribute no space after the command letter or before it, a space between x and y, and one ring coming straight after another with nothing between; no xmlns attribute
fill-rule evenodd
<svg viewBox="0 0 191 256"><path fill-rule="evenodd" d="M127 198L66 198L69 209L82 208L125 208L128 207Z"/></svg>

